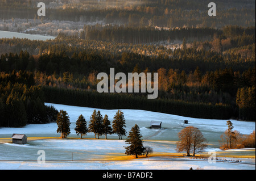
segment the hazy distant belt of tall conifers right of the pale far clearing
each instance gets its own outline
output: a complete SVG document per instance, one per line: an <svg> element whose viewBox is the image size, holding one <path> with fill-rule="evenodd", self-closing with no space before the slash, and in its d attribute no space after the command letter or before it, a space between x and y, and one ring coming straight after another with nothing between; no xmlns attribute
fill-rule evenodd
<svg viewBox="0 0 256 181"><path fill-rule="evenodd" d="M214 28L172 28L158 30L155 27L123 27L123 26L85 26L81 38L97 41L112 41L116 43L148 44L159 41L189 39L203 40L221 34Z"/></svg>

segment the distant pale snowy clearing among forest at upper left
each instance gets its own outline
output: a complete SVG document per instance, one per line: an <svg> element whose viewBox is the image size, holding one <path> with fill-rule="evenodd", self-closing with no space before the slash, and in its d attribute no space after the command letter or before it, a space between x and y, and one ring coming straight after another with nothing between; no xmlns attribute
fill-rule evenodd
<svg viewBox="0 0 256 181"><path fill-rule="evenodd" d="M18 32L10 32L10 31L0 31L0 39L2 38L10 38L13 37L20 39L30 39L30 40L49 40L55 39L54 36L44 36L44 35L30 35L27 33L18 33Z"/></svg>

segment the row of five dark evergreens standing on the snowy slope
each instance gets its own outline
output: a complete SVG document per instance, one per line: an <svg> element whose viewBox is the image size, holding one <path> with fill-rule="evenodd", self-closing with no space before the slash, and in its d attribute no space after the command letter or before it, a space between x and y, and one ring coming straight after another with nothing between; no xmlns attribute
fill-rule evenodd
<svg viewBox="0 0 256 181"><path fill-rule="evenodd" d="M66 138L68 134L70 134L70 121L69 116L66 111L60 110L57 115L57 133L61 133L62 138ZM122 136L126 135L126 123L125 117L121 110L118 110L115 113L113 124L111 127L111 123L109 120L108 115L105 115L104 118L101 115L100 111L94 110L92 115L90 116L90 122L87 127L87 122L83 115L80 115L79 118L76 120L76 134L77 136L80 134L81 138L82 135L86 135L88 132L92 132L95 135L95 138L99 137L104 134L105 138L107 139L108 134L118 134L119 140L122 140Z"/></svg>

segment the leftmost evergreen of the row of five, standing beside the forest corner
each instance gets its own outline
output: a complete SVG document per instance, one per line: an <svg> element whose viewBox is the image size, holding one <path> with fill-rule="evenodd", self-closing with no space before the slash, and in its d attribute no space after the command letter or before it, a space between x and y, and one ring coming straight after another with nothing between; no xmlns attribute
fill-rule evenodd
<svg viewBox="0 0 256 181"><path fill-rule="evenodd" d="M66 138L70 134L70 121L66 111L60 110L57 115L57 133L61 133L61 138Z"/></svg>

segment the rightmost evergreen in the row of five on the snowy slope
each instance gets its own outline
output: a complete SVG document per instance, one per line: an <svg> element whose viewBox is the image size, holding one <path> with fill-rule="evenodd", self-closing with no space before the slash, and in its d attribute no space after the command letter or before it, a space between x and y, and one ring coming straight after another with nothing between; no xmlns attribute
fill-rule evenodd
<svg viewBox="0 0 256 181"><path fill-rule="evenodd" d="M117 133L119 140L122 140L122 136L126 135L126 123L125 123L125 116L123 116L123 112L118 110L115 113L114 120L113 120L113 133Z"/></svg>

